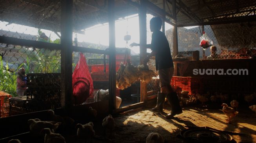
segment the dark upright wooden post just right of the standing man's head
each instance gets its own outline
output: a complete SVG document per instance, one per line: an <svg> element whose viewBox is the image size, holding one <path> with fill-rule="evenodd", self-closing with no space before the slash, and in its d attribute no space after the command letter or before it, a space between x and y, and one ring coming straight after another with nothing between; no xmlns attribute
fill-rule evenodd
<svg viewBox="0 0 256 143"><path fill-rule="evenodd" d="M175 21L174 23L177 23L177 16L176 16L176 0L172 0L172 17ZM177 24L173 27L172 32L172 38L173 38L173 57L178 55L178 27Z"/></svg>

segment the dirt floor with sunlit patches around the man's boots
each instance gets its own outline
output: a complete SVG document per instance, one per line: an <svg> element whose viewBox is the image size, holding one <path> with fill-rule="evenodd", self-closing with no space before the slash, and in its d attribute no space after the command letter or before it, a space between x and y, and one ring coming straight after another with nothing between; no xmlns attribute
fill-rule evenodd
<svg viewBox="0 0 256 143"><path fill-rule="evenodd" d="M152 106L153 107L153 106ZM225 123L227 116L222 109L207 109L197 107L184 107L183 113L174 119L165 119L169 107L164 113L154 113L151 107L140 109L115 117L116 127L107 142L113 143L145 143L150 132L158 132L165 139L165 143L182 143L176 135L186 126L211 127L228 131L237 143L256 143L256 115L250 109L239 109L238 116L231 124ZM96 141L97 142L97 141Z"/></svg>

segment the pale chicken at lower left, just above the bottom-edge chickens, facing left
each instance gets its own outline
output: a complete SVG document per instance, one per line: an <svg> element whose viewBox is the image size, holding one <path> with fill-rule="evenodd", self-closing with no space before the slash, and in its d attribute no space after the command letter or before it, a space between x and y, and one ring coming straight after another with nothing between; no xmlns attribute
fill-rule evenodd
<svg viewBox="0 0 256 143"><path fill-rule="evenodd" d="M39 119L29 119L27 121L29 125L30 132L34 136L42 136L41 130L44 128L51 129L52 132L55 132L55 130L58 128L58 126L61 124L60 122L54 122L54 121L40 121Z"/></svg>

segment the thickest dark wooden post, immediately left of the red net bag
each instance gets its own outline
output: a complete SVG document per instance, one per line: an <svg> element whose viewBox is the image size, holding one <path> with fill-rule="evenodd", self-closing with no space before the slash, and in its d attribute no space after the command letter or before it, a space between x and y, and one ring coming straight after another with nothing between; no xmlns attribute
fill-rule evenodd
<svg viewBox="0 0 256 143"><path fill-rule="evenodd" d="M72 33L73 0L61 1L61 106L70 109L73 105L72 88Z"/></svg>

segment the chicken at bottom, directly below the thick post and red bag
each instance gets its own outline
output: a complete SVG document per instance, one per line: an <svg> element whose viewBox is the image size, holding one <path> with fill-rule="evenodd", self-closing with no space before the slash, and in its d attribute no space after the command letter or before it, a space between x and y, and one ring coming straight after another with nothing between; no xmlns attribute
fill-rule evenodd
<svg viewBox="0 0 256 143"><path fill-rule="evenodd" d="M83 139L87 142L90 142L95 135L95 131L93 130L93 122L89 122L85 125L80 123L76 124L76 135L78 138Z"/></svg>

